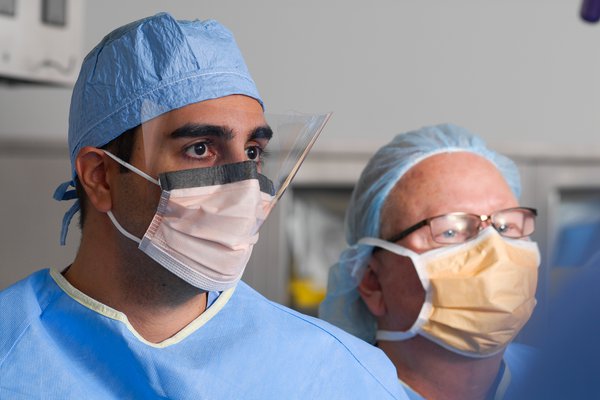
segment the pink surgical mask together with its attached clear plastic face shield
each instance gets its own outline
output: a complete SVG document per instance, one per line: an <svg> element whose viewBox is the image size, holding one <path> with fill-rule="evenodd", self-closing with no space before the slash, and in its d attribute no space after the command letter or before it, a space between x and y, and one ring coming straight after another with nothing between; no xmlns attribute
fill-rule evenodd
<svg viewBox="0 0 600 400"><path fill-rule="evenodd" d="M147 102L142 111L152 116L160 107ZM109 217L140 250L188 283L217 291L234 286L260 226L329 117L265 115L255 100L230 96L149 119L134 134L129 162L107 155L160 187L158 208L141 238L113 213Z"/></svg>

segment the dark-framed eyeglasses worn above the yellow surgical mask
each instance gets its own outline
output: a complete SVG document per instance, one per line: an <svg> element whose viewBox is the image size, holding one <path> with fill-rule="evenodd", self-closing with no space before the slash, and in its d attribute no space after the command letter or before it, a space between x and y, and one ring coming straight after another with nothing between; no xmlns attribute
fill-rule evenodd
<svg viewBox="0 0 600 400"><path fill-rule="evenodd" d="M528 207L508 208L490 215L456 212L424 219L387 241L397 242L427 225L436 243L463 243L476 237L483 229L484 222L489 222L502 236L519 239L533 233L535 217L537 210Z"/></svg>

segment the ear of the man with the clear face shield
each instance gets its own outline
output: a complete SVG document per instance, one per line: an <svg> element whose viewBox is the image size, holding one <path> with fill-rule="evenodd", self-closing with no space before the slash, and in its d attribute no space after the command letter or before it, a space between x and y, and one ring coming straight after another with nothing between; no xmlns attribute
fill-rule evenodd
<svg viewBox="0 0 600 400"><path fill-rule="evenodd" d="M86 146L75 159L75 170L92 207L99 212L112 208L107 156L100 149Z"/></svg>

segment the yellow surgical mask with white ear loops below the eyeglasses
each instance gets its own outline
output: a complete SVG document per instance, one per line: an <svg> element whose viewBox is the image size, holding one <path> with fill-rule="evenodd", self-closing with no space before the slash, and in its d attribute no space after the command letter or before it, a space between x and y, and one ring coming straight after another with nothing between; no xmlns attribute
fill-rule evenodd
<svg viewBox="0 0 600 400"><path fill-rule="evenodd" d="M426 293L409 330L379 330L377 340L419 334L464 356L489 357L514 339L535 307L535 242L504 238L488 227L474 240L422 254L376 238L359 243L409 257Z"/></svg>

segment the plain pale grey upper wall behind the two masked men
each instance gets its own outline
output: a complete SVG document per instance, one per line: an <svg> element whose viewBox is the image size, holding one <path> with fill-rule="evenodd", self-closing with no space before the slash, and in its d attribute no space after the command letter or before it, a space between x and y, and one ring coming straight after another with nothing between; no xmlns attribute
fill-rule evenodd
<svg viewBox="0 0 600 400"><path fill-rule="evenodd" d="M85 53L161 10L223 22L268 110L335 112L321 149L372 149L446 121L511 152L596 143L600 29L578 18L578 0L78 1ZM63 141L69 95L2 87L1 137Z"/></svg>

